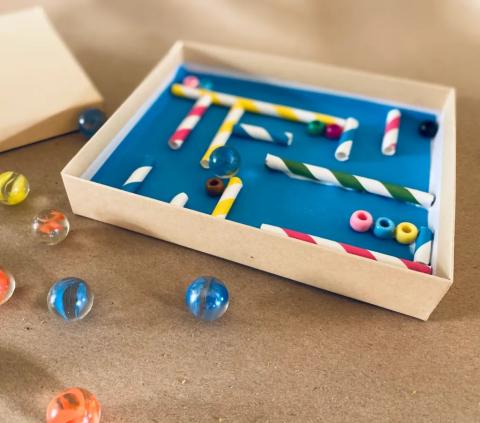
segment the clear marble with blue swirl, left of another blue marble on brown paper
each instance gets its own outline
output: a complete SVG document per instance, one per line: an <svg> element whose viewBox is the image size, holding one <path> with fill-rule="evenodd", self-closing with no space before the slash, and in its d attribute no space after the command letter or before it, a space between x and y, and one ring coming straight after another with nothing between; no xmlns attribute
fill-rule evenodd
<svg viewBox="0 0 480 423"><path fill-rule="evenodd" d="M49 310L63 320L81 320L92 309L93 293L84 280L64 278L50 288L47 304Z"/></svg>

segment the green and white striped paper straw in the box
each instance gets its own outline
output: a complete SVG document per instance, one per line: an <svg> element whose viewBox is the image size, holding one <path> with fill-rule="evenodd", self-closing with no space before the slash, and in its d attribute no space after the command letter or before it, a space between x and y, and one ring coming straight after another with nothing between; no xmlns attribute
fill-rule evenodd
<svg viewBox="0 0 480 423"><path fill-rule="evenodd" d="M293 160L274 156L273 154L267 154L265 165L272 170L283 172L294 179L330 184L356 191L365 191L370 194L394 198L398 201L412 203L425 208L429 208L435 200L435 196L428 192L381 182L377 179L337 172L326 167L295 162Z"/></svg>

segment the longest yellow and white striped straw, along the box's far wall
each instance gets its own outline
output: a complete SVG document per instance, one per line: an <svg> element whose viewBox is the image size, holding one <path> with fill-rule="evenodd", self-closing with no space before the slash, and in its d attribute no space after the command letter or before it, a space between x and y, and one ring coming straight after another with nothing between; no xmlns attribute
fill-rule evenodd
<svg viewBox="0 0 480 423"><path fill-rule="evenodd" d="M296 122L308 123L312 120L319 120L325 124L336 123L342 128L345 120L336 116L330 116L323 113L312 112L309 110L297 109L295 107L283 106L281 104L267 103L265 101L254 100L252 98L238 97L231 94L225 94L218 91L209 91L201 88L190 88L182 84L172 85L172 94L179 97L197 99L205 94L212 96L213 104L218 106L231 107L235 103L240 105L245 111L267 116L275 116L282 119L293 120Z"/></svg>

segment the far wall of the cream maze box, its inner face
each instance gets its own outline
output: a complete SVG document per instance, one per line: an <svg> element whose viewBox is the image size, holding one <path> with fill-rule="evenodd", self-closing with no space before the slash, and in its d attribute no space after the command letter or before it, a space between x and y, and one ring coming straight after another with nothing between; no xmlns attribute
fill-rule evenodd
<svg viewBox="0 0 480 423"><path fill-rule="evenodd" d="M440 110L449 88L336 66L185 42L185 60L258 78L299 82L347 94Z"/></svg>

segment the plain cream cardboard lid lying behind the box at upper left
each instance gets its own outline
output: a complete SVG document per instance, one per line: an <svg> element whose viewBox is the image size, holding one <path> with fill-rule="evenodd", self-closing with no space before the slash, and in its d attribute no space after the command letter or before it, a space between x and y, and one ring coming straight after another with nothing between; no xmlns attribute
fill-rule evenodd
<svg viewBox="0 0 480 423"><path fill-rule="evenodd" d="M103 99L42 8L0 16L0 151L71 132Z"/></svg>

